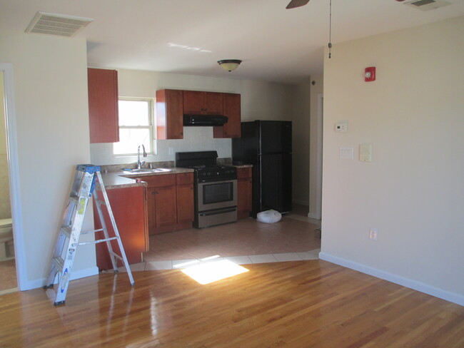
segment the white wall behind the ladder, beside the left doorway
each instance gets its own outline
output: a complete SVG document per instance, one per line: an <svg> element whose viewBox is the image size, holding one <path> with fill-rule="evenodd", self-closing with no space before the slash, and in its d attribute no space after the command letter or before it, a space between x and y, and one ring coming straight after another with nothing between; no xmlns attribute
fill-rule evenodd
<svg viewBox="0 0 464 348"><path fill-rule="evenodd" d="M74 166L90 160L86 41L0 31L0 47L14 69L25 290L43 285ZM80 247L74 275L96 271L94 246Z"/></svg>

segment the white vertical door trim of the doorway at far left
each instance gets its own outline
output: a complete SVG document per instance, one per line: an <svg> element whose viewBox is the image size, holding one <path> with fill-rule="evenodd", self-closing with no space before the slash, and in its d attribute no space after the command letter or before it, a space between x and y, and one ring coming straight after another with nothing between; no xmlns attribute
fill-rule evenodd
<svg viewBox="0 0 464 348"><path fill-rule="evenodd" d="M16 279L19 290L26 290L27 266L24 248L23 214L21 210L21 187L19 182L19 160L16 132L16 109L14 102L13 64L0 63L4 73L4 93L6 109L6 152L9 166L11 198L11 218L13 219L14 255L16 259Z"/></svg>

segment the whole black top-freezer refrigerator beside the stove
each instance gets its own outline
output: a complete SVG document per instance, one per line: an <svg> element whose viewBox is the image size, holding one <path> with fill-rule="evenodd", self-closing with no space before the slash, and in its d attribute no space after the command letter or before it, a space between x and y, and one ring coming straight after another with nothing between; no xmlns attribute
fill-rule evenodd
<svg viewBox="0 0 464 348"><path fill-rule="evenodd" d="M241 123L241 138L232 139L234 164L253 165L253 217L264 210L291 211L292 123Z"/></svg>

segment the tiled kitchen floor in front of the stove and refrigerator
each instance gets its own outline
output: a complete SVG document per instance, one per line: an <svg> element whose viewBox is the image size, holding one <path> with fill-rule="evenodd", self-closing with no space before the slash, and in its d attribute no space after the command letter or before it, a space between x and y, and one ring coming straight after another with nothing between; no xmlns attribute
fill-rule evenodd
<svg viewBox="0 0 464 348"><path fill-rule="evenodd" d="M144 262L131 265L132 271L171 270L179 264L227 259L238 265L318 258L321 239L316 229L318 220L303 213L284 215L274 224L253 218L203 229L191 228L150 236L150 251ZM120 269L124 271L123 267Z"/></svg>

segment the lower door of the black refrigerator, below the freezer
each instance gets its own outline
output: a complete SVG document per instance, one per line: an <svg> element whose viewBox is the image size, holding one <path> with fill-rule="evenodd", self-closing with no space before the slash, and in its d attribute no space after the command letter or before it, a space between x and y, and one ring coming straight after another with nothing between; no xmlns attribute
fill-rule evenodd
<svg viewBox="0 0 464 348"><path fill-rule="evenodd" d="M291 211L292 157L290 153L261 155L261 209Z"/></svg>

